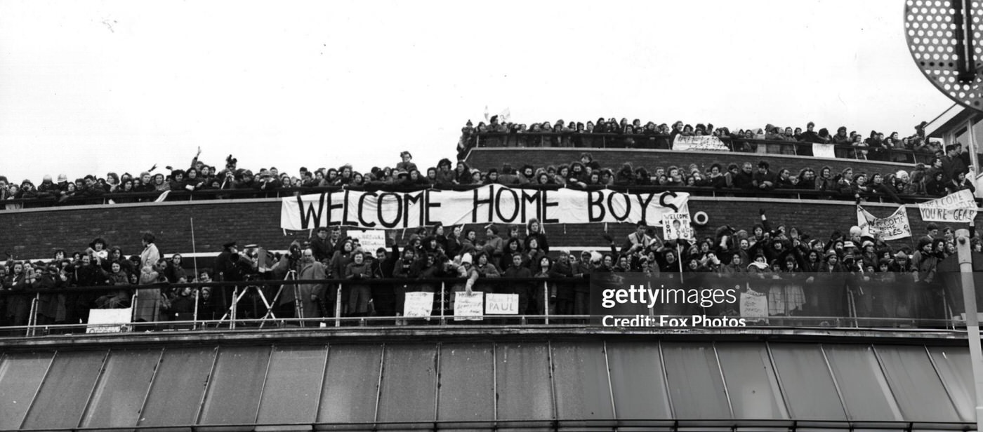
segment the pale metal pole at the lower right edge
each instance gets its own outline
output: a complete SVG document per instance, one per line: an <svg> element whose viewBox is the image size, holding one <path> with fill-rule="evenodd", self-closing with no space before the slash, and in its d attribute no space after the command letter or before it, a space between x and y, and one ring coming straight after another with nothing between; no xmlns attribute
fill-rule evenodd
<svg viewBox="0 0 983 432"><path fill-rule="evenodd" d="M976 287L973 285L972 255L969 250L969 230L955 230L956 252L962 282L962 301L966 309L966 334L969 339L969 360L976 384L976 430L983 430L983 350L980 349L980 322L976 315Z"/></svg>

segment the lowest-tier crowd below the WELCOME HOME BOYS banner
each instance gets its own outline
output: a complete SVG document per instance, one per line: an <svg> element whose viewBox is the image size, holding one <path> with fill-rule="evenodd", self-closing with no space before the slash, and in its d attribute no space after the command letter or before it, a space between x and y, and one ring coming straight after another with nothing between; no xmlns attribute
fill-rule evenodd
<svg viewBox="0 0 983 432"><path fill-rule="evenodd" d="M19 292L40 291L37 324L78 324L87 322L92 308L134 305L135 286L153 286L139 290L134 305L138 322L214 320L230 311L237 291L228 284L184 286L210 282L257 287L235 303L239 318L265 316L263 299L273 302L277 317L327 318L337 312L398 317L406 293L440 290L445 301L435 307L448 314L458 293L483 292L518 295L519 314L587 315L590 278L617 272L681 277L692 287L721 284L708 278L742 278L736 284L742 292L768 296L770 316L941 319L946 285L938 266L955 252L954 230L934 223L915 247L891 247L862 237L856 227L812 237L774 226L764 210L753 227L738 230L726 225L713 236L693 241L663 241L656 227L638 221L637 229L624 239L600 234L609 244L607 253L550 247L545 227L536 220L525 226L436 225L419 229L401 245L394 232L390 234L389 246L376 250L366 250L336 227L319 228L311 239L291 243L284 253L255 244L240 250L236 243L227 243L214 265L197 274L179 254L162 257L150 234L143 238L143 251L129 257L119 245L95 239L82 251L57 250L50 260L12 258L0 266L2 290L7 292L0 296L0 325L28 324L33 296ZM975 233L972 236L972 248L983 251L983 243ZM836 276L832 283L830 275ZM537 283L535 278L545 280ZM324 282L278 283L291 279ZM340 292L335 290L337 282L330 282L338 280L347 281ZM72 287L116 288L44 294ZM660 311L698 312L665 307ZM735 315L737 307L715 305L702 312ZM397 318L396 323L405 321Z"/></svg>

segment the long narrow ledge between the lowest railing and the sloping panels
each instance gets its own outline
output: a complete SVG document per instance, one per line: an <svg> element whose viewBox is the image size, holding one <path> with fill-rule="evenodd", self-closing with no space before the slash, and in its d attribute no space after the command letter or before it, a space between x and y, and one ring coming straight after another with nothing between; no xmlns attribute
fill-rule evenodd
<svg viewBox="0 0 983 432"><path fill-rule="evenodd" d="M963 346L966 333L932 329L855 328L727 328L617 329L597 326L411 326L340 327L317 329L204 330L98 335L58 335L0 339L0 351L106 349L138 346L435 343L500 341L677 341L677 342L800 342L837 344L896 344Z"/></svg>

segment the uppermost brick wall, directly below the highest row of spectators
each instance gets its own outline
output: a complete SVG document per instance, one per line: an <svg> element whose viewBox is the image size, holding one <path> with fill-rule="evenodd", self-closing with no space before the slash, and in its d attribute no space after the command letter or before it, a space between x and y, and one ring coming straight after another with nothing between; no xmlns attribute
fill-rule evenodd
<svg viewBox="0 0 983 432"><path fill-rule="evenodd" d="M812 156L599 148L523 148L522 151L516 151L515 148L475 148L468 155L467 162L472 167L483 171L490 168L500 169L503 163L509 163L515 169L519 169L525 164L531 164L534 167L558 166L564 163L579 161L580 154L585 150L591 153L594 156L594 160L598 161L602 167L611 168L614 171L617 171L621 167L621 164L625 162L631 162L635 168L644 167L650 172L654 172L656 167L668 168L672 165L689 166L691 163L696 163L703 170L709 168L715 162L720 163L726 168L726 165L731 162L737 163L738 165L744 162L751 162L757 165L760 160L767 160L772 164L773 171L787 168L792 171L793 175L806 167L811 167L819 171L824 166L830 166L835 173L847 167L852 167L856 172L866 173L894 173L901 169L910 172L913 167L911 164L871 162L854 159L818 159Z"/></svg>

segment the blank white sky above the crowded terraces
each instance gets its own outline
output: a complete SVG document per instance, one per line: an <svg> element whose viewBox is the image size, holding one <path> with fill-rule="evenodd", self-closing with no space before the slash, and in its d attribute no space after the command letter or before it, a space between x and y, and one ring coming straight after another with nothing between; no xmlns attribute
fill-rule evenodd
<svg viewBox="0 0 983 432"><path fill-rule="evenodd" d="M0 174L421 167L460 128L604 117L903 135L952 105L900 0L0 0ZM162 168L160 168L162 169ZM165 171L166 173L166 171Z"/></svg>

